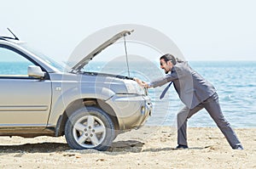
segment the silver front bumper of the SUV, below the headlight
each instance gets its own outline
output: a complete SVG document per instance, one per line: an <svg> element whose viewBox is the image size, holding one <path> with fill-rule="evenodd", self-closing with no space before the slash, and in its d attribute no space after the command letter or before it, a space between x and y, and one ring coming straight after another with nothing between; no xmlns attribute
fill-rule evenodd
<svg viewBox="0 0 256 169"><path fill-rule="evenodd" d="M142 127L153 110L150 98L142 95L117 94L107 103L116 113L120 130Z"/></svg>

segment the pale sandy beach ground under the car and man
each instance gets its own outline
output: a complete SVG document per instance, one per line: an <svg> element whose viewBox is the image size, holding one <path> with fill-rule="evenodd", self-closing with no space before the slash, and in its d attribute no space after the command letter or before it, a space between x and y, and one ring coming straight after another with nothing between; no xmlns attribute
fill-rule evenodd
<svg viewBox="0 0 256 169"><path fill-rule="evenodd" d="M173 149L172 127L119 135L108 151L70 149L64 137L0 137L0 168L256 168L255 128L236 128L244 150L230 148L217 127L189 127L189 149Z"/></svg>

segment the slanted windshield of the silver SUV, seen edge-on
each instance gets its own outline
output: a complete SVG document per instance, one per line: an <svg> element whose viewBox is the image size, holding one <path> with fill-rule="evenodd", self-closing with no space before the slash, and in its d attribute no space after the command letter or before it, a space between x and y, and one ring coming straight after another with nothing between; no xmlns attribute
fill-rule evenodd
<svg viewBox="0 0 256 169"><path fill-rule="evenodd" d="M63 65L56 62L54 59L50 59L48 56L42 54L41 52L38 52L37 50L35 50L35 48L32 48L27 43L20 43L20 46L23 47L23 48L26 48L26 50L32 52L32 54L37 55L39 58L43 59L49 65L54 66L57 70L60 70L60 71L65 70Z"/></svg>

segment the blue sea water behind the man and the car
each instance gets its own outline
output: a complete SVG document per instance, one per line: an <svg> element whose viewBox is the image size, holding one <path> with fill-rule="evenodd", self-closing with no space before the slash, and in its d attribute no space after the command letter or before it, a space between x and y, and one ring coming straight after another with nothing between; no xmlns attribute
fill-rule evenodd
<svg viewBox="0 0 256 169"><path fill-rule="evenodd" d="M8 66L8 63L4 64ZM256 127L256 61L189 61L189 65L217 89L219 104L231 127ZM21 65L9 63L9 66L19 69ZM84 70L138 77L145 82L165 76L156 62L132 62L128 68L119 61L98 61L86 65ZM164 99L159 99L165 87L148 89L154 109L145 125L176 126L177 112L183 108L183 103L173 86ZM206 110L200 110L189 118L188 127L217 126Z"/></svg>

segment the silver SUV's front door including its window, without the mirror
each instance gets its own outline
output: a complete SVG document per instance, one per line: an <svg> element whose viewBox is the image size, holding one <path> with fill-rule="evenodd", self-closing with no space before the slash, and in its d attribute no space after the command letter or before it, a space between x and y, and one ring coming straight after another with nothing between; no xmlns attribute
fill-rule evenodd
<svg viewBox="0 0 256 169"><path fill-rule="evenodd" d="M15 48L0 46L0 127L42 127L49 116L51 82L27 75L36 65Z"/></svg>

